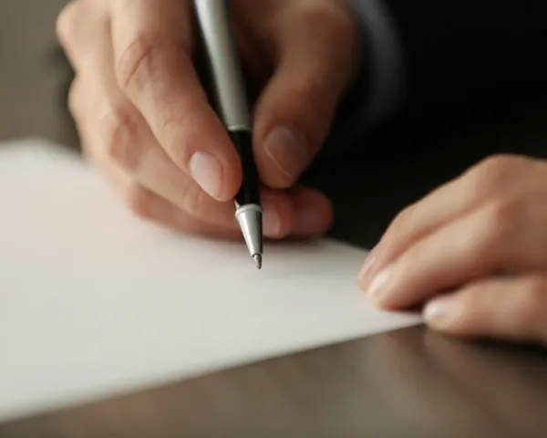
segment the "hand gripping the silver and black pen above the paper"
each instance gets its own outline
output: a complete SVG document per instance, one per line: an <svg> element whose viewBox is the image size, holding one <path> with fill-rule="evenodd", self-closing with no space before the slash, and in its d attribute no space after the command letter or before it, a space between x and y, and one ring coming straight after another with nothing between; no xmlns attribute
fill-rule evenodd
<svg viewBox="0 0 547 438"><path fill-rule="evenodd" d="M294 182L324 141L351 80L357 37L345 0L233 0L246 76L261 90L253 144L264 234L316 235L325 196ZM239 157L192 61L190 0L75 0L57 34L76 78L69 108L82 149L134 213L200 235L239 238Z"/></svg>

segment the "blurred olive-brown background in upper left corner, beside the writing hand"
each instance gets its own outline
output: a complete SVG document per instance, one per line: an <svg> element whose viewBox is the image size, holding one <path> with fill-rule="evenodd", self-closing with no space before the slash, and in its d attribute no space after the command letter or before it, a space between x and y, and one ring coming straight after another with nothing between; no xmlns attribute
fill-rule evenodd
<svg viewBox="0 0 547 438"><path fill-rule="evenodd" d="M0 1L0 141L40 136L77 144L64 107L70 69L55 34L67 3Z"/></svg>

